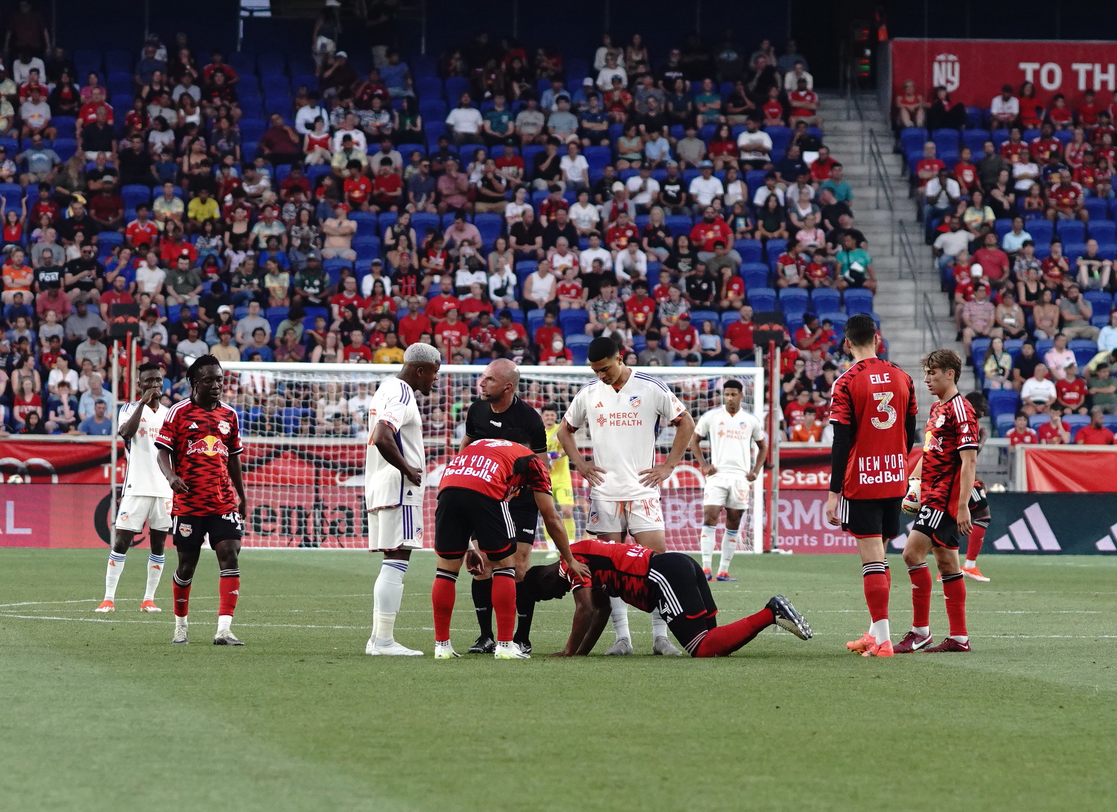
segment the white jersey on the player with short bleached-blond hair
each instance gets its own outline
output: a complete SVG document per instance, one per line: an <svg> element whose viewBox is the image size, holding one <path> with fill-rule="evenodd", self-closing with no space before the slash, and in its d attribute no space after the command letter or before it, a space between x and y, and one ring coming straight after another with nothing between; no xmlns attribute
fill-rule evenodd
<svg viewBox="0 0 1117 812"><path fill-rule="evenodd" d="M389 465L372 442L376 423L395 432L395 445L412 468L426 471L422 415L414 390L392 375L385 378L369 405L369 448L364 456L364 506L367 510L399 505L422 505L422 486L413 485Z"/></svg>

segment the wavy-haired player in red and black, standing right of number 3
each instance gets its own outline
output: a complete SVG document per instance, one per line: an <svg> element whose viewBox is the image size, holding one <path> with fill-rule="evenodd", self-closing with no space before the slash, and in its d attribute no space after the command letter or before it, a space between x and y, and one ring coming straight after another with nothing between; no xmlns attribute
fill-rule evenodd
<svg viewBox="0 0 1117 812"><path fill-rule="evenodd" d="M966 583L958 566L958 536L973 528L970 498L977 466L977 418L958 392L962 360L953 350L936 350L923 361L924 381L938 400L930 407L923 443L923 459L913 478L919 489L919 514L904 546L904 562L911 579L911 631L896 646L896 653L970 651L966 633ZM932 647L930 570L934 553L943 576L943 598L949 637Z"/></svg>

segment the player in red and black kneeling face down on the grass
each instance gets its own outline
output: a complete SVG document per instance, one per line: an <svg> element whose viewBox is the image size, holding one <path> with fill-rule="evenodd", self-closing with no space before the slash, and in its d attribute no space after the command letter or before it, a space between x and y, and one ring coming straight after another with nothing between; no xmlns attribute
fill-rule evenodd
<svg viewBox="0 0 1117 812"><path fill-rule="evenodd" d="M595 539L570 548L574 560L589 567L589 574L575 574L560 561L533 566L524 579L538 601L574 592L574 622L566 648L552 657L589 655L605 628L612 600L659 612L691 657L728 657L773 623L801 640L812 637L806 620L783 595L768 600L755 614L719 627L706 575L698 562L684 553L655 553L638 544Z"/></svg>

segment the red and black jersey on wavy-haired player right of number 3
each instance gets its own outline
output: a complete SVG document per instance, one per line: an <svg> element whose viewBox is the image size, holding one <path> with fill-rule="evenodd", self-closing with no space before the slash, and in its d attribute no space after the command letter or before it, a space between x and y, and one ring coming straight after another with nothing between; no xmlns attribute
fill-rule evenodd
<svg viewBox="0 0 1117 812"><path fill-rule="evenodd" d="M962 451L977 448L977 415L962 393L945 403L935 401L923 442L920 505L958 515Z"/></svg>

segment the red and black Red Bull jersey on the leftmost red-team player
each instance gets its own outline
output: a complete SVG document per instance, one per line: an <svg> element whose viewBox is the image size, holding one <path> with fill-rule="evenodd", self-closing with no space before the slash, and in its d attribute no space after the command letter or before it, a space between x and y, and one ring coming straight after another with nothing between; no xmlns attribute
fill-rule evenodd
<svg viewBox="0 0 1117 812"><path fill-rule="evenodd" d="M229 457L245 449L232 407L219 402L216 409L202 409L193 401L180 401L168 410L155 445L171 452L174 472L189 488L174 495L174 516L221 516L237 510Z"/></svg>

